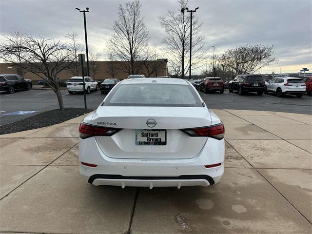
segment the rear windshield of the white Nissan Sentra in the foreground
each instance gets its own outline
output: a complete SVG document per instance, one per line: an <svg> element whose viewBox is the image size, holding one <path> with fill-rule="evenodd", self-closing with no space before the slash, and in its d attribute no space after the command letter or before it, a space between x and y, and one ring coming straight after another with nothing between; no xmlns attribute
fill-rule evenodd
<svg viewBox="0 0 312 234"><path fill-rule="evenodd" d="M184 106L203 107L190 85L122 84L111 93L103 106Z"/></svg>

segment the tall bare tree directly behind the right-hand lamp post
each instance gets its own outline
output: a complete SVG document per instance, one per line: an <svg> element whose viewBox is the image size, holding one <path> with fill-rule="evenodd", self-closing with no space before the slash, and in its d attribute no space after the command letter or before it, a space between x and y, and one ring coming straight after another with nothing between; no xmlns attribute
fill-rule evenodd
<svg viewBox="0 0 312 234"><path fill-rule="evenodd" d="M188 6L188 0L178 0L180 9ZM160 25L166 32L162 43L165 45L163 51L168 54L169 64L174 73L184 78L190 68L190 21L189 13L169 10L165 16L159 17ZM201 62L206 59L204 49L204 36L200 35L202 24L193 16L192 23L192 67L200 67Z"/></svg>

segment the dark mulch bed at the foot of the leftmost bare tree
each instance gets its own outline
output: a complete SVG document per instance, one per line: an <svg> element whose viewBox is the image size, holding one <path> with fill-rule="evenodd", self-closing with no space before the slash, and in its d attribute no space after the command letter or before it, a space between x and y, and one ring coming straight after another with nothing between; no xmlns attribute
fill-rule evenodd
<svg viewBox="0 0 312 234"><path fill-rule="evenodd" d="M51 110L0 126L0 135L42 128L87 114L93 109L65 108Z"/></svg>

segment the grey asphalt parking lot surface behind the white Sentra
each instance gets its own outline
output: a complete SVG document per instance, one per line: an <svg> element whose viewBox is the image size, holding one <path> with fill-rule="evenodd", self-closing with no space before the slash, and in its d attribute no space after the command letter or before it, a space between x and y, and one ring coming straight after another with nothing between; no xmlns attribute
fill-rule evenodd
<svg viewBox="0 0 312 234"><path fill-rule="evenodd" d="M70 95L61 90L65 107L83 108L83 95ZM236 109L290 112L312 114L312 97L285 96L277 98L274 94L257 96L254 93L239 96L237 93L224 94L199 92L210 109ZM87 95L87 108L96 109L106 95L99 91ZM40 112L59 108L58 100L52 90L18 91L14 94L0 92L0 125L14 122ZM26 111L35 111L33 113Z"/></svg>

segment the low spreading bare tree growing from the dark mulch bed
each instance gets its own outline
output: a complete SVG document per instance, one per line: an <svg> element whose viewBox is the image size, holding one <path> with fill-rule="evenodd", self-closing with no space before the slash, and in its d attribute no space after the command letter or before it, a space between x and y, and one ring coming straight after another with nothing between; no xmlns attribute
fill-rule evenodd
<svg viewBox="0 0 312 234"><path fill-rule="evenodd" d="M0 58L13 65L20 65L24 70L45 80L57 95L59 109L63 110L58 74L67 70L75 61L67 44L20 33L5 38L6 42L0 45Z"/></svg>

